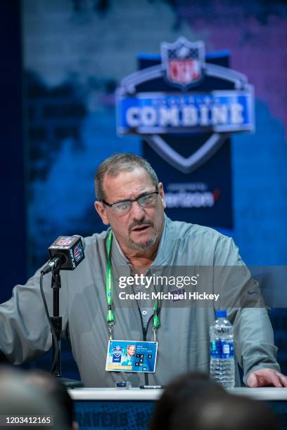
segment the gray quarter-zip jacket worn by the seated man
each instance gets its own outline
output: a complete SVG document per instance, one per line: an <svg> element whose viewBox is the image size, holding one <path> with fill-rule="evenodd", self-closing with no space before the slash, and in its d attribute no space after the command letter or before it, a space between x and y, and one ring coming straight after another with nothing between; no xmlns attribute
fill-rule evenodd
<svg viewBox="0 0 287 430"><path fill-rule="evenodd" d="M108 347L107 237L108 231L86 237L84 261L75 271L60 272L63 334L68 333L70 337L72 353L85 386L113 387L115 382L123 379L129 380L132 386L139 386L145 383L143 373L105 370ZM118 279L130 275L131 267L116 240L113 240L111 261L115 312L113 339L141 341L146 338L153 341L153 301L143 304L141 301L122 301L119 298L119 292L125 290L119 288ZM186 268L195 266L208 268L205 278L209 278L209 281L199 281L198 292L208 289L210 292L211 285L212 292L219 292L222 297L224 291L239 300L245 297L247 270L243 277L236 278L234 285L234 276L224 272L217 278L211 269L217 266L245 267L233 240L211 228L171 221L165 216L158 254L148 273L161 273L163 268L170 271L174 267L179 275L181 268L186 271ZM197 269L192 271L193 274L198 272ZM36 358L51 348L51 332L44 313L39 277L40 270L26 285L15 286L12 298L0 305L0 350L15 364ZM157 292L161 290L158 286L154 289ZM172 289L177 287L170 287ZM134 287L134 292L140 290L147 291L146 287ZM44 276L44 292L52 315L51 275ZM224 300L196 306L190 306L188 302L170 301L170 306L162 304L160 308L158 359L155 373L148 374L149 384L165 385L170 379L189 370L209 371L209 327L215 320L215 308L222 308ZM236 301L236 307L229 306L228 315L234 325L236 360L243 368L244 382L253 370L262 367L280 370L267 309L239 308ZM236 382L239 383L238 374Z"/></svg>

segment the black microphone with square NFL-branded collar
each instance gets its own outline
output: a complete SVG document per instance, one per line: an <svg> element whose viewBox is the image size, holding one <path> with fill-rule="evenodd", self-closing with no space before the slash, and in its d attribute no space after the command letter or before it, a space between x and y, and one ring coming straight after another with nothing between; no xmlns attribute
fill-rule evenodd
<svg viewBox="0 0 287 430"><path fill-rule="evenodd" d="M84 260L84 245L81 236L59 236L48 248L50 259L41 273L46 275L56 269L73 271Z"/></svg>

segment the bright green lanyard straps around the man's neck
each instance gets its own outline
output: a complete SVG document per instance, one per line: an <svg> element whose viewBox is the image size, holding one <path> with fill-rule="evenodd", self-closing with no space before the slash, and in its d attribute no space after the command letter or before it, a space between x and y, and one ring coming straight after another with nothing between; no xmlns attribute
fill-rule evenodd
<svg viewBox="0 0 287 430"><path fill-rule="evenodd" d="M113 325L115 324L115 315L113 313L113 273L112 273L112 263L110 261L110 249L112 247L113 242L113 231L110 230L107 240L107 252L108 252L108 261L107 261L107 273L106 273L106 299L108 304L108 315L107 315L107 325L110 333L110 340L112 340L113 335ZM158 299L155 299L155 303L153 305L153 333L154 337L156 331L160 327L160 318L159 318L159 306Z"/></svg>

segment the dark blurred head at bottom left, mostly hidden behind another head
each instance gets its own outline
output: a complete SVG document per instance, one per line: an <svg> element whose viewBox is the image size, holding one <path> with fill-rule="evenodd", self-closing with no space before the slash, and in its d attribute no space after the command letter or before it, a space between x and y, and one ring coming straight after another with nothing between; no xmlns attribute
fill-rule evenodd
<svg viewBox="0 0 287 430"><path fill-rule="evenodd" d="M65 424L73 430L77 430L79 425L74 420L74 405L72 398L65 386L60 383L59 379L53 377L44 370L31 370L25 377L27 384L34 386L43 391L43 393L55 401L63 413Z"/></svg>

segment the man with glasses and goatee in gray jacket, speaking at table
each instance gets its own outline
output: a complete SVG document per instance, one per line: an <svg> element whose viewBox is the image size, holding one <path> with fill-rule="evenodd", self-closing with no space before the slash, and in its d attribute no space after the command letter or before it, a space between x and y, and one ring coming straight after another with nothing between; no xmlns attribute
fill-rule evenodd
<svg viewBox="0 0 287 430"><path fill-rule="evenodd" d="M122 300L120 293L125 289L120 288L119 280L131 275L152 277L164 268L242 268L233 240L211 228L168 219L162 183L150 164L136 155L106 159L96 173L95 187L96 211L110 228L85 239L86 258L75 271L61 272L60 289L63 332L69 334L85 386L115 386L122 379L132 386L146 382L164 385L181 372L208 372L208 330L219 306L215 303L216 292L220 294L217 282L213 280L211 306L176 301L172 306L160 306L158 300L135 300L132 296ZM17 285L13 297L0 306L0 350L13 363L35 358L51 348L39 275L37 271L26 285ZM241 297L245 283L243 279L233 285L231 294ZM44 291L51 312L50 285L51 277L46 275ZM146 285L136 283L132 288L134 294L147 290ZM200 283L198 288L200 292ZM287 386L276 362L266 308L229 308L229 319L234 325L236 359L243 368L245 384ZM106 371L110 337L129 342L153 341L156 337L155 373Z"/></svg>

